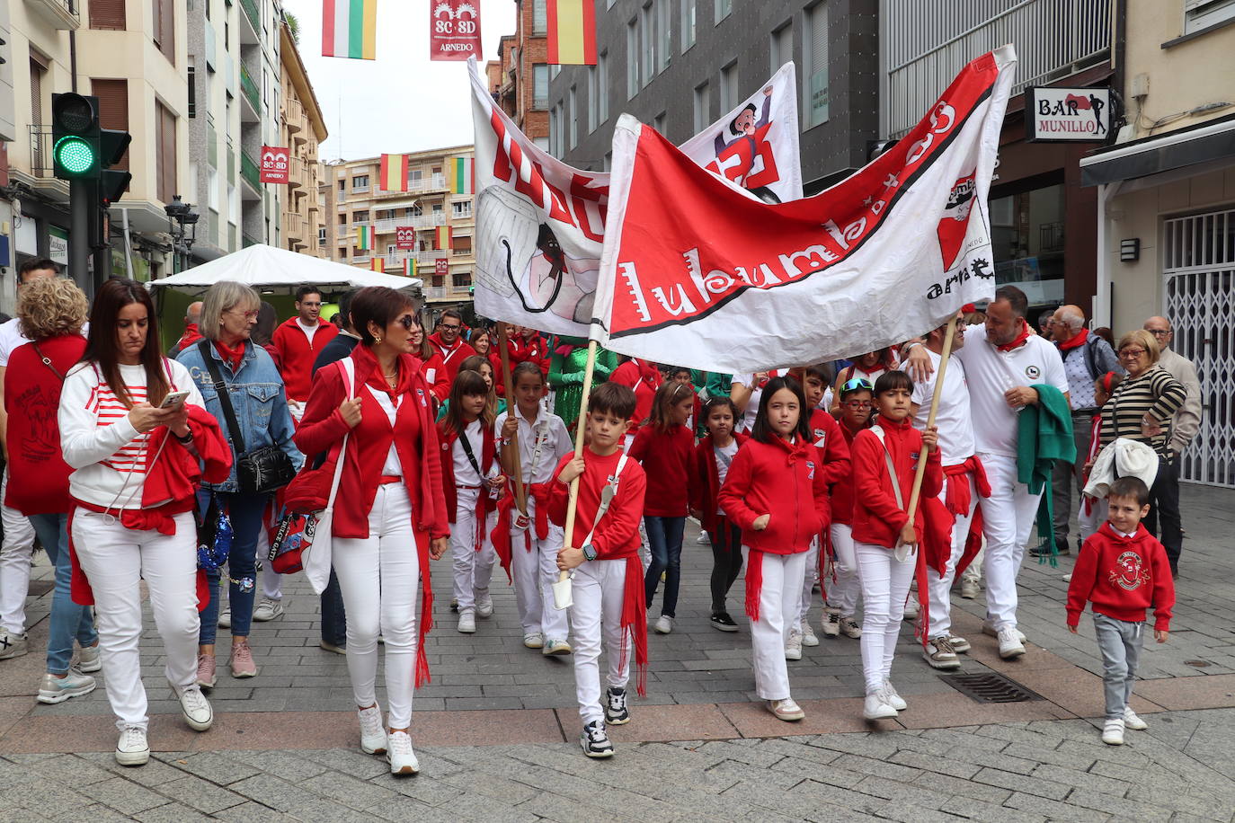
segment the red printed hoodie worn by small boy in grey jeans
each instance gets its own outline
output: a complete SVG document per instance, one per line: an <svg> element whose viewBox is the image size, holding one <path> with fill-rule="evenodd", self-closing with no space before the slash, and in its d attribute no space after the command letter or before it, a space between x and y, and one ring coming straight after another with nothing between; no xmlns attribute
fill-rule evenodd
<svg viewBox="0 0 1235 823"><path fill-rule="evenodd" d="M1124 537L1103 523L1081 547L1068 584L1068 626L1081 622L1087 602L1098 614L1116 621L1141 623L1145 610L1153 608L1153 628L1171 631L1174 608L1174 577L1166 549L1153 536L1137 527Z"/></svg>

